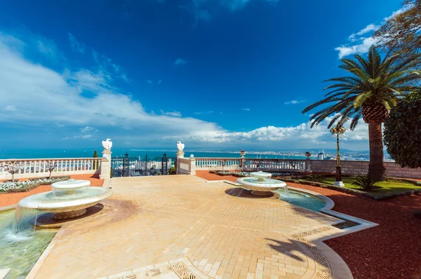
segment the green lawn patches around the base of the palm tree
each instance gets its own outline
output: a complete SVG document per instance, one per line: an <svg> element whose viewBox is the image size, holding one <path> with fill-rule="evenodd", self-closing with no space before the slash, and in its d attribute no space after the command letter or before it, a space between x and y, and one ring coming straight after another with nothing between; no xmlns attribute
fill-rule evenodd
<svg viewBox="0 0 421 279"><path fill-rule="evenodd" d="M321 179L321 182L333 185L333 183L335 182L335 177L323 177L323 179ZM361 191L361 187L353 184L353 182L355 182L355 179L352 177L342 177L342 182L344 182L345 188ZM410 190L421 189L420 186L414 185L412 183L400 182L396 180L376 182L375 185L380 186L381 188L370 191L369 193L373 196L382 196L389 193L400 193Z"/></svg>

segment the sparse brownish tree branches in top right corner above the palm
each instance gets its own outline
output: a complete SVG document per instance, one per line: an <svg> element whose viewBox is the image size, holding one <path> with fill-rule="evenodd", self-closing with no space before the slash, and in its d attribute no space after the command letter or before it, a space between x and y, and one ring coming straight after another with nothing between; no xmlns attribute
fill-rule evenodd
<svg viewBox="0 0 421 279"><path fill-rule="evenodd" d="M421 53L421 0L403 1L403 13L386 20L374 38L388 53Z"/></svg>

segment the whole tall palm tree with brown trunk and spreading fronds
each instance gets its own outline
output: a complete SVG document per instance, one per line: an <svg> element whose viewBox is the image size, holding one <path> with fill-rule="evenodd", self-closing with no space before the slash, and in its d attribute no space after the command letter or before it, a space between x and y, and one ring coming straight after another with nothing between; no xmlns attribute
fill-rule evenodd
<svg viewBox="0 0 421 279"><path fill-rule="evenodd" d="M421 72L414 71L420 64L420 55L410 55L397 60L399 53L382 60L379 52L372 46L367 59L354 55L352 59L342 59L341 69L351 73L328 79L335 84L324 88L330 90L323 100L315 102L302 110L305 114L323 104L329 104L314 114L311 127L333 116L328 128L343 125L351 121L350 129L354 130L361 116L368 123L370 144L370 164L368 177L374 181L384 180L385 165L383 163L382 123L400 95L416 89L415 81L421 78Z"/></svg>

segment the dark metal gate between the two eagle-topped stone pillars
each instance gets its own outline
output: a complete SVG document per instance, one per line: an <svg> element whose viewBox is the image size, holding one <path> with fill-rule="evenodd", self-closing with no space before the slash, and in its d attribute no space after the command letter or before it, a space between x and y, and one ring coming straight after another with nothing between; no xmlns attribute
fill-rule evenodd
<svg viewBox="0 0 421 279"><path fill-rule="evenodd" d="M164 153L162 157L144 158L129 157L127 152L123 157L111 159L112 177L136 177L149 175L173 175L177 165L176 157L168 157Z"/></svg>

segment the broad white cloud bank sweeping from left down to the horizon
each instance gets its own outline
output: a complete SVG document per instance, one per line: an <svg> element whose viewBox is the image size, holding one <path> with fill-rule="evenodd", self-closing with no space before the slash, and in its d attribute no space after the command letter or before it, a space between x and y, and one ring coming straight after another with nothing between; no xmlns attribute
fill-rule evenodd
<svg viewBox="0 0 421 279"><path fill-rule="evenodd" d="M21 38L0 33L0 123L10 129L20 129L22 135L31 130L32 136L28 139L31 144L42 144L44 130L52 125L55 128L48 137L57 142L91 141L99 145L101 138L109 137L114 147L127 146L127 142L163 147L182 140L190 147L238 147L241 144L243 147L298 148L319 147L331 141L326 121L313 129L309 123L301 123L290 127L267 125L239 132L226 130L218 123L182 116L184 111L155 114L114 86L112 81L121 71L68 67L58 72L26 57L25 47L30 44L21 42ZM85 51L86 48L84 46ZM366 143L367 137L367 126L363 124L349 132L344 140L361 145L361 142ZM11 142L13 137L0 139L3 146Z"/></svg>

